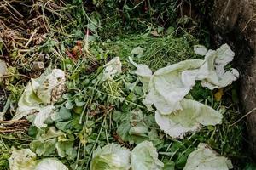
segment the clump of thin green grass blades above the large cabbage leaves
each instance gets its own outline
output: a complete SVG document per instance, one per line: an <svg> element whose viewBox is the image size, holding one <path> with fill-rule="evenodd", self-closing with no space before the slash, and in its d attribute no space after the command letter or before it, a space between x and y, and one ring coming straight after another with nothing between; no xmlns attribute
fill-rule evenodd
<svg viewBox="0 0 256 170"><path fill-rule="evenodd" d="M150 35L120 37L116 42L105 43L104 48L121 58L131 56L133 48L143 48L143 54L134 56L134 60L148 65L153 71L185 59L199 58L193 51L193 45L198 43L197 39L186 32L181 36L175 36L175 32L165 37Z"/></svg>

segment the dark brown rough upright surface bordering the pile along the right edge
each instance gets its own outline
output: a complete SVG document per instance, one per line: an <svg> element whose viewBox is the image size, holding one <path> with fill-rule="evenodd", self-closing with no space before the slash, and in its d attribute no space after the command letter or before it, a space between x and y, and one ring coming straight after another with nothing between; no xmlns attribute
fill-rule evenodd
<svg viewBox="0 0 256 170"><path fill-rule="evenodd" d="M247 116L247 133L256 161L256 1L215 0L212 29L218 42L228 42L236 52L241 72L241 102Z"/></svg>

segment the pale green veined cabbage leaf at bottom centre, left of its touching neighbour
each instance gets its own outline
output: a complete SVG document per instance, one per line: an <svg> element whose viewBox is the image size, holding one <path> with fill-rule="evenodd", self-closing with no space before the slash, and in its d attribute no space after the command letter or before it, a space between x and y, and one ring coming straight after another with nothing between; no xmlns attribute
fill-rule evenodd
<svg viewBox="0 0 256 170"><path fill-rule="evenodd" d="M131 151L119 144L108 144L93 151L90 170L129 170Z"/></svg>

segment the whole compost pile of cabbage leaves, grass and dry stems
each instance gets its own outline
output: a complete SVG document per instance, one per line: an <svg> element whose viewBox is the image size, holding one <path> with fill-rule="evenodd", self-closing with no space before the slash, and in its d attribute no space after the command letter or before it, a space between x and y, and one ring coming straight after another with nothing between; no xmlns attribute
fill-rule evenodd
<svg viewBox="0 0 256 170"><path fill-rule="evenodd" d="M0 2L0 167L253 168L204 1Z"/></svg>

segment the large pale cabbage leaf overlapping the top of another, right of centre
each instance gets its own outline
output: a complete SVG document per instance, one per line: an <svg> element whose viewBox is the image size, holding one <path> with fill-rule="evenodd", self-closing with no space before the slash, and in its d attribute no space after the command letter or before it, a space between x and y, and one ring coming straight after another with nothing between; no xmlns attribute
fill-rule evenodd
<svg viewBox="0 0 256 170"><path fill-rule="evenodd" d="M181 110L180 101L195 85L195 80L205 77L199 71L201 59L190 59L155 71L148 85L148 95L143 104L154 105L162 115Z"/></svg>

